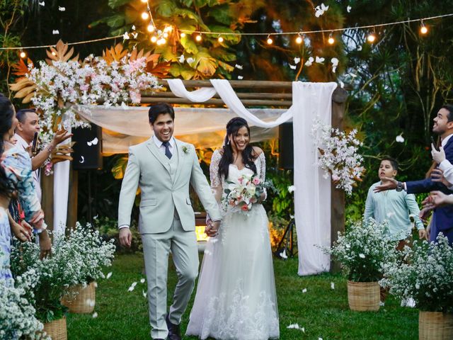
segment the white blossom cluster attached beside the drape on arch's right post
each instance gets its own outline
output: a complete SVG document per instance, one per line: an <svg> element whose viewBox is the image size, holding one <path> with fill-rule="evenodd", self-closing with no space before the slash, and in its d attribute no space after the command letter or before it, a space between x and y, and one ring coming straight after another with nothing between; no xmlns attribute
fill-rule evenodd
<svg viewBox="0 0 453 340"><path fill-rule="evenodd" d="M330 174L336 188L343 189L348 195L365 171L362 166L363 157L357 153L362 142L355 135L357 130L346 135L344 131L322 124L319 120L315 120L311 128L314 145L319 149L315 165L325 171L326 179Z"/></svg>

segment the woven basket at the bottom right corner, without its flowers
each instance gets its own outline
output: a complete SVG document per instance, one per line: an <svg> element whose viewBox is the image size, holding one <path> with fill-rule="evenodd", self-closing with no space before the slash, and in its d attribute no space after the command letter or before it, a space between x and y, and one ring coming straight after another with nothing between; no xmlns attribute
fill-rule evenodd
<svg viewBox="0 0 453 340"><path fill-rule="evenodd" d="M453 314L420 310L418 313L418 339L453 339Z"/></svg>

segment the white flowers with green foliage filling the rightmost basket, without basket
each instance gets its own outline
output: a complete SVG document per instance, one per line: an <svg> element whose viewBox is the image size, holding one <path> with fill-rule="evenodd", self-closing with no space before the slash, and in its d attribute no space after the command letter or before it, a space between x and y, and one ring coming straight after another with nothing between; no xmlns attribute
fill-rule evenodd
<svg viewBox="0 0 453 340"><path fill-rule="evenodd" d="M404 260L387 263L381 285L401 300L429 312L453 312L453 248L442 233L437 242L414 244L403 251Z"/></svg>

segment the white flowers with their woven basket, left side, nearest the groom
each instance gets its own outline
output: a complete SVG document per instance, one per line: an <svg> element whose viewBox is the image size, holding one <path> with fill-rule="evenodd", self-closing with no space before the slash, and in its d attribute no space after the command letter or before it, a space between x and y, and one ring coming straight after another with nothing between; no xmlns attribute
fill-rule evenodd
<svg viewBox="0 0 453 340"><path fill-rule="evenodd" d="M69 293L62 297L62 304L69 312L91 313L96 303L96 280L104 277L102 268L112 264L114 240L105 242L90 224L84 227L77 222L66 242L80 256L81 271L79 283L69 288Z"/></svg>

